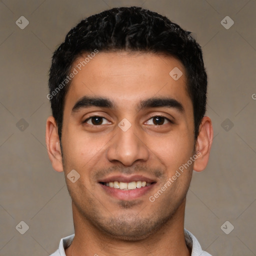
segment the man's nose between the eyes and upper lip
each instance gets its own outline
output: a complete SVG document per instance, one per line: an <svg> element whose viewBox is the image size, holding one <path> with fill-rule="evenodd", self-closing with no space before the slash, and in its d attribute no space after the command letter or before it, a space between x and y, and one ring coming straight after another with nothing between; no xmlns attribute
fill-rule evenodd
<svg viewBox="0 0 256 256"><path fill-rule="evenodd" d="M126 166L131 166L138 160L146 161L149 149L143 141L141 132L135 129L135 125L131 125L126 131L117 126L116 134L107 149L108 160L119 161Z"/></svg>

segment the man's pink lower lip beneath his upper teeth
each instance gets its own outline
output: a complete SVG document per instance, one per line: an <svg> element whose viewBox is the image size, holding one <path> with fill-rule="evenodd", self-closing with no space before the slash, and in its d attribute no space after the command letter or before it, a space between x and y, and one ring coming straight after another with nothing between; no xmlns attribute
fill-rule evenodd
<svg viewBox="0 0 256 256"><path fill-rule="evenodd" d="M155 183L152 183L148 186L142 186L140 188L124 190L124 189L113 188L110 186L100 184L100 186L104 189L106 193L120 200L137 199L142 195L146 194L149 190L151 190L154 185Z"/></svg>

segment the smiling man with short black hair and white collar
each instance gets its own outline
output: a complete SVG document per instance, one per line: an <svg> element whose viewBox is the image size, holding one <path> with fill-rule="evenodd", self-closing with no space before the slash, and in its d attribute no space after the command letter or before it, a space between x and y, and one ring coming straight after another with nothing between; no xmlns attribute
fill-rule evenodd
<svg viewBox="0 0 256 256"><path fill-rule="evenodd" d="M46 144L74 235L52 255L209 255L184 229L192 170L212 143L200 46L139 7L103 11L53 54Z"/></svg>

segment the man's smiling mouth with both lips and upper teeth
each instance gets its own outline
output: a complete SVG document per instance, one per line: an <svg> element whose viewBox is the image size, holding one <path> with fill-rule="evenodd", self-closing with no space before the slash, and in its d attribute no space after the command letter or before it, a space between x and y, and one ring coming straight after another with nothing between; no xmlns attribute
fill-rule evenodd
<svg viewBox="0 0 256 256"><path fill-rule="evenodd" d="M99 180L98 183L107 195L121 200L132 200L146 194L156 181L142 175L117 175Z"/></svg>

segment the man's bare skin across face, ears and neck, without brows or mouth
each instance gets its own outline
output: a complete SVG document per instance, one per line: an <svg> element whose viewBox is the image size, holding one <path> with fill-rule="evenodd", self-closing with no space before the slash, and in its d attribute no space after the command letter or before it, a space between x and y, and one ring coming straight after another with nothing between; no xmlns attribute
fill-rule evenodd
<svg viewBox="0 0 256 256"><path fill-rule="evenodd" d="M78 58L73 67L83 58ZM183 75L174 80L169 72ZM83 96L103 97L113 107L72 108ZM183 106L140 108L140 101L170 97ZM91 116L102 116L92 125ZM152 116L164 116L156 125ZM118 123L131 124L123 131ZM84 120L87 120L84 122ZM46 144L56 171L64 171L72 199L75 237L66 255L190 255L183 225L185 196L192 170L205 168L212 143L209 117L201 122L194 141L192 101L186 91L185 70L173 57L153 53L99 52L72 79L66 94L62 126L62 155L52 116L46 123ZM154 202L154 195L168 178L196 151L192 164ZM80 178L66 175L75 169ZM155 184L135 199L117 199L99 180L111 175L140 174ZM152 254L151 254L152 253Z"/></svg>

